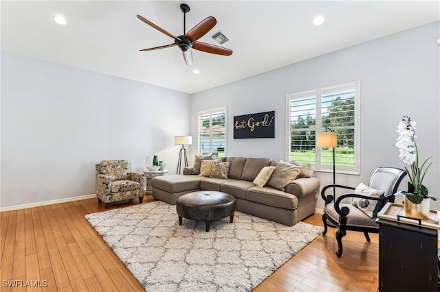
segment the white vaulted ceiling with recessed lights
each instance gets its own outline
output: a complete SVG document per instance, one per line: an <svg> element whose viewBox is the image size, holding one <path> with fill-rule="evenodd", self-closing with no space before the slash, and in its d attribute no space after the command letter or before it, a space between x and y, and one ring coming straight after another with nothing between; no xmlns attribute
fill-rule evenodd
<svg viewBox="0 0 440 292"><path fill-rule="evenodd" d="M187 31L207 16L217 19L200 41L218 45L209 36L221 30L231 39L224 47L232 56L192 50L194 64L186 66L177 47L139 51L174 40L136 15L179 36L180 3L190 5ZM67 25L54 23L56 14L65 16ZM315 26L311 21L318 14L325 22ZM439 0L1 1L1 49L197 93L439 20Z"/></svg>

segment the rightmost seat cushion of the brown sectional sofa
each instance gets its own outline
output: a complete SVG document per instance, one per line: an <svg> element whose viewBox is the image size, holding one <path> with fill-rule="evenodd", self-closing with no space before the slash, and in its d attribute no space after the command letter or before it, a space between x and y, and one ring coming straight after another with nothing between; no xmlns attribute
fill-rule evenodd
<svg viewBox="0 0 440 292"><path fill-rule="evenodd" d="M296 195L276 190L270 186L263 186L263 188L252 186L246 192L246 199L251 202L287 210L293 210L298 207Z"/></svg>

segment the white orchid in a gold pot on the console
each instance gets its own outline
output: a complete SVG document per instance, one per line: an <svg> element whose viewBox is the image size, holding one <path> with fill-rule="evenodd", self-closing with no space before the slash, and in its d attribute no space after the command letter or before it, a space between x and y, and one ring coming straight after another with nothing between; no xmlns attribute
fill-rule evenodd
<svg viewBox="0 0 440 292"><path fill-rule="evenodd" d="M420 164L419 149L415 142L416 123L410 117L404 116L397 125L396 132L399 133L396 147L399 148L399 158L404 161L406 173L408 174L408 191L401 191L405 195L405 215L416 219L429 219L429 199L436 201L434 197L428 195L428 188L424 186L423 178L426 171L432 165L428 162L428 157Z"/></svg>

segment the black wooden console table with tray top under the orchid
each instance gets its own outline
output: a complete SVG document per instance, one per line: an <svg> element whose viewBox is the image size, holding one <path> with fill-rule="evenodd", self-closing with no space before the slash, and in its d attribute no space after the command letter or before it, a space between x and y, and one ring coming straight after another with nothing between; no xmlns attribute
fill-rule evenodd
<svg viewBox="0 0 440 292"><path fill-rule="evenodd" d="M437 291L437 211L419 221L407 219L402 205L388 203L379 223L379 289Z"/></svg>

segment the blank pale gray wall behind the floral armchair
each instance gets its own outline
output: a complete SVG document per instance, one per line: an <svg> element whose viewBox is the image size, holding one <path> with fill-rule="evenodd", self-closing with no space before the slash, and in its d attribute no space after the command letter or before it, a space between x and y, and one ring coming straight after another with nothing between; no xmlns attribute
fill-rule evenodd
<svg viewBox="0 0 440 292"><path fill-rule="evenodd" d="M190 95L1 53L1 207L95 193L95 163L158 155L173 173Z"/></svg>

